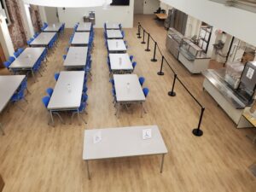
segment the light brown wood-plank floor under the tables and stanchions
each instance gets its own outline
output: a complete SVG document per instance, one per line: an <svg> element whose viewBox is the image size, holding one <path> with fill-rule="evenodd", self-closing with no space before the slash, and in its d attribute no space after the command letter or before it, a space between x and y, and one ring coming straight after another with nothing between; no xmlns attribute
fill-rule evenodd
<svg viewBox="0 0 256 192"><path fill-rule="evenodd" d="M139 108L133 113L125 109L117 119L108 82L107 51L103 31L96 29L95 49L92 55L93 78L89 81L88 115L83 114L87 125L76 121L55 128L47 125L49 114L41 103L45 89L55 86L54 73L63 70L62 55L71 31L60 38L55 53L49 56L47 71L38 82L30 78L26 109L11 106L1 114L5 136L0 137L0 173L6 186L4 192L255 192L256 178L248 166L256 160L256 147L246 137L251 130L236 129L234 123L207 92L202 91L203 77L191 75L165 48L166 31L152 16L137 15L137 21L148 29L158 41L168 61L180 79L206 107L202 121L202 137L191 131L198 124L200 108L177 83L176 97L167 96L172 85L172 73L164 67L164 76L156 73L158 62L151 62L153 52L137 38L137 28L125 29L128 53L135 56L135 73L146 78L149 95L145 105L148 113L140 118ZM153 47L151 47L153 49ZM159 55L158 55L159 56ZM90 162L92 179L86 175L82 160L84 129L130 125L159 125L169 153L164 172L160 174L160 156L96 160Z"/></svg>

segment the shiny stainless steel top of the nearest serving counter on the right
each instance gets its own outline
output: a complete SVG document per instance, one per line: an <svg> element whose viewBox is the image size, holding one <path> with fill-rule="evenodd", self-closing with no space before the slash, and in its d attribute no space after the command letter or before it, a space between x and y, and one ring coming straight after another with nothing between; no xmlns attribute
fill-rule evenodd
<svg viewBox="0 0 256 192"><path fill-rule="evenodd" d="M230 102L234 108L242 109L247 107L247 101L243 101L243 98L236 93L236 90L232 90L228 83L224 81L224 69L208 69L203 72L203 75L208 79L219 93L224 96L224 98Z"/></svg>

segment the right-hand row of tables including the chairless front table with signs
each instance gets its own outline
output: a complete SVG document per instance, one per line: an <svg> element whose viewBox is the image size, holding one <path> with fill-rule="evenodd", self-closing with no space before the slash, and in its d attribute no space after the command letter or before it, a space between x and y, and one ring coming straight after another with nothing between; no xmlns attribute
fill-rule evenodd
<svg viewBox="0 0 256 192"><path fill-rule="evenodd" d="M108 29L118 32L108 32ZM118 103L117 116L121 104L139 103L142 106L146 98L139 83L137 74L115 74L119 71L133 71L131 60L126 53L123 39L119 38L119 25L106 24L107 42L110 67L113 71L116 101ZM113 38L113 39L109 39ZM117 43L118 42L118 43ZM160 172L163 171L164 157L167 154L166 144L161 137L157 125L114 127L84 131L83 160L87 166L90 179L90 160L102 160L139 155L161 154Z"/></svg>

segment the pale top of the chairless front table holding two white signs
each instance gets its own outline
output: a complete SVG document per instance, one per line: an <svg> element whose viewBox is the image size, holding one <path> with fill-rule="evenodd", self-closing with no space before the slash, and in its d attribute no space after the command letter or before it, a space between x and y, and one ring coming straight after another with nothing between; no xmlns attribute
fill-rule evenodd
<svg viewBox="0 0 256 192"><path fill-rule="evenodd" d="M151 129L152 137L143 139L143 130ZM94 143L96 134L102 140ZM157 125L117 127L84 131L83 160L167 154L166 144Z"/></svg>

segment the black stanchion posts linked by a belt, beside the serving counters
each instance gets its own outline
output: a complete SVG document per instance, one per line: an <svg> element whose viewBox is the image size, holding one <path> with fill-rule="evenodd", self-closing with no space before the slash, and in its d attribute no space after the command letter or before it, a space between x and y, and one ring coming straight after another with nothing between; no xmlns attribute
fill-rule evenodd
<svg viewBox="0 0 256 192"><path fill-rule="evenodd" d="M141 33L142 33L143 37L141 36ZM145 42L145 38L146 38L147 35L148 35L147 42ZM175 70L172 68L170 63L166 60L166 57L162 54L162 52L160 50L160 47L157 44L157 42L154 40L154 38L152 38L150 33L147 32L143 28L143 26L141 25L140 22L138 22L138 26L137 26L137 38L143 38L143 41L141 42L141 44L147 44L147 48L145 49L145 51L150 51L150 49L149 49L150 39L153 41L153 43L154 43L154 55L153 55L153 58L151 59L151 61L153 61L153 62L157 61L157 59L156 59L156 51L158 50L160 52L160 55L161 55L161 65L160 65L160 71L157 73L158 75L164 75L164 72L163 72L164 63L166 63L167 66L171 69L171 71L172 71L172 73L174 75L174 79L173 79L173 82L172 82L172 90L168 92L168 95L169 96L176 96L176 92L174 91L174 88L175 88L176 81L178 81L183 86L184 90L186 90L189 93L189 96L191 96L192 99L201 108L201 113L200 113L200 118L199 118L199 121L198 121L197 128L193 129L192 132L193 132L193 134L195 136L198 136L198 137L202 136L203 135L203 131L201 131L201 121L202 121L202 118L203 118L203 114L204 114L205 108L203 107L201 102L199 102L195 98L195 96L190 92L189 88L187 88L187 86L185 84L183 84L183 81L181 79L179 79L179 77L177 76L177 73L175 72ZM164 61L166 61L166 62L164 62Z"/></svg>

